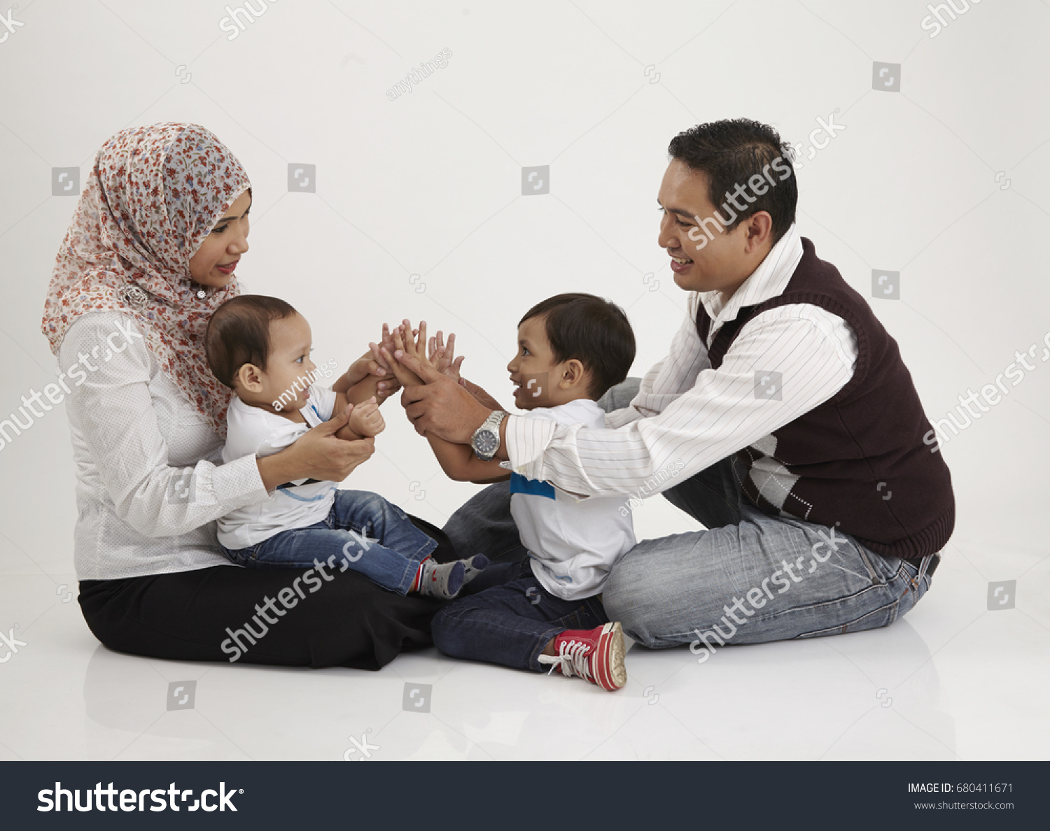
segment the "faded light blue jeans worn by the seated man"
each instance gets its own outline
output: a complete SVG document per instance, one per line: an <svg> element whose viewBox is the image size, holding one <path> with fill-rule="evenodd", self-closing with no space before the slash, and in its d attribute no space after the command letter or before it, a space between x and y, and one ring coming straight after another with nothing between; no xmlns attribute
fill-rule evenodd
<svg viewBox="0 0 1050 831"><path fill-rule="evenodd" d="M627 406L637 384L628 379L598 404ZM742 496L732 465L722 460L664 491L709 530L639 542L609 575L605 611L633 640L689 643L704 661L734 643L888 626L929 589L931 557L885 557L837 528L769 516ZM476 494L444 531L460 552L524 556L506 483Z"/></svg>

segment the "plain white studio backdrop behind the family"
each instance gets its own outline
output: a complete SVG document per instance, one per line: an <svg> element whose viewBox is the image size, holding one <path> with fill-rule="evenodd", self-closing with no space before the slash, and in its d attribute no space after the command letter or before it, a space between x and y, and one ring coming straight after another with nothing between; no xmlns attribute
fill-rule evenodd
<svg viewBox="0 0 1050 831"><path fill-rule="evenodd" d="M345 367L382 321L423 318L508 402L517 321L556 292L627 310L633 375L663 357L685 310L656 244L668 142L749 116L799 145L798 223L818 255L866 297L873 270L899 273L899 298L872 303L930 418L1040 344L1036 368L944 449L952 550L985 579L1016 577L1046 553L1050 4L957 4L934 26L915 0L249 0L265 13L234 27L244 3L0 2L0 418L54 380L40 317L79 191L66 176L52 195L54 169L84 183L126 126L196 122L242 159L254 206L238 275L306 315L317 363ZM391 100L443 49L447 66ZM844 129L811 135L820 120ZM548 165L533 184L549 193L523 194L522 168ZM290 192L290 166L315 192ZM385 414L348 485L442 524L477 488L445 480L396 402ZM61 405L0 450L0 573L71 582ZM697 527L659 497L635 516L639 537ZM44 587L40 614L58 602Z"/></svg>

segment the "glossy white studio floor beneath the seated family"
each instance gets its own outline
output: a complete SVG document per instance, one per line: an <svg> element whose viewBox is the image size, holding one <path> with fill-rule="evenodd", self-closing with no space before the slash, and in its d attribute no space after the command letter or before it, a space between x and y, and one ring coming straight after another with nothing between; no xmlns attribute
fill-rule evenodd
<svg viewBox="0 0 1050 831"><path fill-rule="evenodd" d="M72 575L8 573L0 627L25 645L0 647L0 759L1046 759L1050 558L1005 566L1022 587L1013 609L988 609L1002 552L952 545L889 628L735 646L704 665L685 647L633 646L614 694L435 649L379 673L132 658L58 593Z"/></svg>

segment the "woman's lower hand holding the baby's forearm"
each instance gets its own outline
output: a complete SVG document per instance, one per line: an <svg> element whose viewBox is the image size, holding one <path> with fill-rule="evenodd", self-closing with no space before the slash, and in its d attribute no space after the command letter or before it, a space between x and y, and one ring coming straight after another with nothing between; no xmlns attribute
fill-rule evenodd
<svg viewBox="0 0 1050 831"><path fill-rule="evenodd" d="M257 460L262 484L268 491L297 478L342 482L376 450L373 436L356 442L338 439L335 433L350 419L354 405L308 430L290 447Z"/></svg>

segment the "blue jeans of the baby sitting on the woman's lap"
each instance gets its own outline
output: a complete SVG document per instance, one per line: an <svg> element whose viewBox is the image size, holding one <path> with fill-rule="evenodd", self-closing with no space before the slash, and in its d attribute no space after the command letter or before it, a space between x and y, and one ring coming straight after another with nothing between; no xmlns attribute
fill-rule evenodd
<svg viewBox="0 0 1050 831"><path fill-rule="evenodd" d="M438 544L378 493L337 490L320 523L281 531L246 549L223 553L238 566L309 569L315 560L353 569L377 585L406 594L419 563Z"/></svg>

